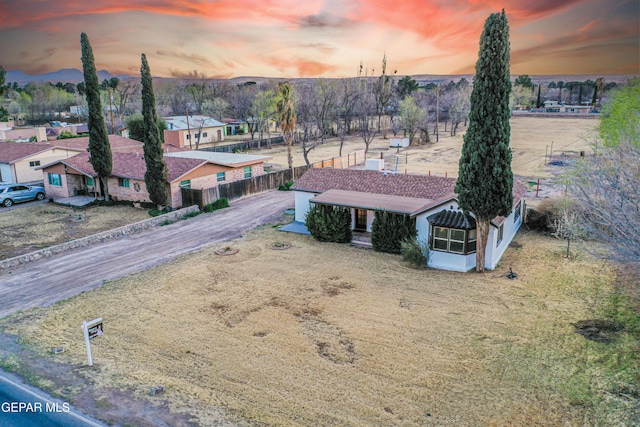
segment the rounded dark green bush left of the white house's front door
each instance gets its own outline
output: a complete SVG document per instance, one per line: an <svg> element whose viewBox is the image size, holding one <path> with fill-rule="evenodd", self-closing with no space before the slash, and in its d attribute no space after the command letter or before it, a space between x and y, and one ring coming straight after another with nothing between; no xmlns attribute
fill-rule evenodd
<svg viewBox="0 0 640 427"><path fill-rule="evenodd" d="M351 210L315 205L305 219L309 233L320 242L351 242Z"/></svg>

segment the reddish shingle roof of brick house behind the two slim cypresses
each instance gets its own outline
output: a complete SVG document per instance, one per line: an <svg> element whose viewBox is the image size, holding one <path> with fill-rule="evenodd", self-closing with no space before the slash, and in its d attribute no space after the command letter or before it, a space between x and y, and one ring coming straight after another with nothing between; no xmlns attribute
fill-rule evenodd
<svg viewBox="0 0 640 427"><path fill-rule="evenodd" d="M112 153L112 158L113 168L111 176L116 176L118 178L144 179L144 174L147 171L147 165L144 162L144 158L139 153L115 152ZM165 157L164 160L169 172L169 182L173 182L187 172L207 163L205 160L170 157ZM81 153L68 159L59 160L45 167L58 163L63 163L88 176L97 176L96 172L93 170L93 166L89 163L89 153Z"/></svg>

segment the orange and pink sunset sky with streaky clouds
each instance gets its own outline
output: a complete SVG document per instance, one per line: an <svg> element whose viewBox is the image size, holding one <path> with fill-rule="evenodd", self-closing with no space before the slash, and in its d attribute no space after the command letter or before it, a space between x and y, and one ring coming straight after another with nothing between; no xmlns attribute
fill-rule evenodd
<svg viewBox="0 0 640 427"><path fill-rule="evenodd" d="M473 73L502 8L514 74L640 74L638 0L0 0L0 65L182 77Z"/></svg>

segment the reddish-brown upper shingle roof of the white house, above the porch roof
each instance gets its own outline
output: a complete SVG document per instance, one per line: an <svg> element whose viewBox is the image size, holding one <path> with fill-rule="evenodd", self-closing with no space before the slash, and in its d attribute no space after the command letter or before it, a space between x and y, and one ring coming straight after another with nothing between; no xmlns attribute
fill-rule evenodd
<svg viewBox="0 0 640 427"><path fill-rule="evenodd" d="M294 190L322 193L330 189L420 199L455 197L455 178L387 174L354 169L309 169L293 185Z"/></svg>

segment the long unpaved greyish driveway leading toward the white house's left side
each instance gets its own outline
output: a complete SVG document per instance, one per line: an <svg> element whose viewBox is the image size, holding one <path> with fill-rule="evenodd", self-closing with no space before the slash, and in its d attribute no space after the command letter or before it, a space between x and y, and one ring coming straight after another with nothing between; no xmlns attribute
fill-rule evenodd
<svg viewBox="0 0 640 427"><path fill-rule="evenodd" d="M238 238L294 205L293 193L270 191L186 221L75 249L0 273L0 318L47 306L211 243Z"/></svg>

